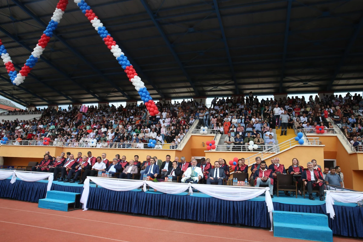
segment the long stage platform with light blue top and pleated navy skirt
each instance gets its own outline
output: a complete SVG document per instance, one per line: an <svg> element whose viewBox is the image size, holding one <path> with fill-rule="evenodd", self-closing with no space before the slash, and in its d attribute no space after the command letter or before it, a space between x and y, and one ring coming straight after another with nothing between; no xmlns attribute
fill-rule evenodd
<svg viewBox="0 0 363 242"><path fill-rule="evenodd" d="M264 195L246 201L226 201L203 193L189 195L183 192L171 195L154 192L154 189L148 192L141 189L115 192L96 187L92 183L87 204L89 209L227 225L271 226ZM38 202L45 198L47 185L46 180L26 182L17 179L14 184L10 183L10 179L0 180L0 197ZM53 181L51 190L82 193L83 185ZM272 201L274 210L278 211L326 214L325 201L319 201L318 197L315 199L311 201L307 197L288 197L281 193L279 197L274 196ZM334 210L334 220L328 214L333 234L363 238L363 208L356 207L356 204L337 202Z"/></svg>

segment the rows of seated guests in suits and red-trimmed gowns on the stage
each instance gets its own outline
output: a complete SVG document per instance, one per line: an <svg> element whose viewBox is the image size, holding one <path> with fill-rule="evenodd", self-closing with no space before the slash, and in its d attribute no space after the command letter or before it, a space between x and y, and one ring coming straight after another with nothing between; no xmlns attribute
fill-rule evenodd
<svg viewBox="0 0 363 242"><path fill-rule="evenodd" d="M322 170L316 160L311 160L304 169L298 159L293 158L291 165L286 169L278 157L270 161L271 164L266 164L266 161L256 157L256 163L248 169L245 159L241 158L238 159L234 173L237 175L245 173L245 179L250 181L251 186L269 186L271 197L276 193L279 174L293 175L293 180L297 182L298 194L302 195L301 188L305 186L310 200L315 200L312 195L315 187L319 189L316 196L323 201L325 186L332 186L334 189L344 186L340 167L325 167ZM181 157L179 161L179 157L174 157L172 160L170 155L166 155L165 161L162 161L156 156L148 155L145 161L140 161L139 156L135 155L133 160L127 161L126 156L117 154L113 160L108 160L106 153L94 157L91 151L87 152L87 156L82 156L82 152L78 152L77 157L70 152L66 154L62 152L60 156L52 157L49 151L46 151L44 159L32 167L31 171L52 172L53 179L62 182L74 183L80 178L78 184L83 184L87 176L98 176L100 171L121 179L143 180L145 174L158 181L164 181L166 177L172 176L172 180L176 182L217 185L227 184L230 176L230 166L222 158L215 162L211 162L209 158L202 158L198 163L195 157L191 157L188 162L185 157ZM288 191L285 194L290 196Z"/></svg>

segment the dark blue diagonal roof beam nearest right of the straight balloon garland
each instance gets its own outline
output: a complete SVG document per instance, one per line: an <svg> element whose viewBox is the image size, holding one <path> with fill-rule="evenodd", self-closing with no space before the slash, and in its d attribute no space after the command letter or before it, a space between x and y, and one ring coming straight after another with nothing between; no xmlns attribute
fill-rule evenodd
<svg viewBox="0 0 363 242"><path fill-rule="evenodd" d="M158 29L160 35L163 37L167 47L169 48L170 52L172 53L173 57L175 58L176 62L178 63L181 71L183 72L184 76L187 78L188 82L190 83L190 85L192 86L195 94L197 96L199 96L198 90L195 88L194 83L192 81L192 79L189 77L187 71L185 71L183 64L181 63L178 54L176 54L173 46L171 45L168 37L166 36L166 34L164 33L163 29L161 28L159 22L155 19L154 13L151 11L151 9L149 8L149 6L147 5L147 3L144 0L140 0L140 2L142 3L142 5L144 6L146 12L148 13L148 15L150 16L152 22L154 22L154 25L156 27L156 29Z"/></svg>

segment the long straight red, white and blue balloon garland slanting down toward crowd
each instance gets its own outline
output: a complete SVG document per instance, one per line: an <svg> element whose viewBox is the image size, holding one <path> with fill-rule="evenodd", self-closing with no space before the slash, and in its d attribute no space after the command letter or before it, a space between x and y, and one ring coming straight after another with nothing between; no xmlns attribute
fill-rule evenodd
<svg viewBox="0 0 363 242"><path fill-rule="evenodd" d="M119 46L116 44L116 41L111 37L111 34L106 30L106 27L103 26L101 20L98 19L94 11L84 0L74 0L74 3L77 3L79 9L82 10L82 13L87 17L87 19L92 23L92 26L97 31L99 36L107 45L107 48L113 53L113 56L116 57L118 63L122 66L122 69L125 70L129 81L132 82L132 85L135 86L136 91L138 91L141 100L147 107L151 116L159 114L158 107L156 107L155 102L152 100L150 93L147 91L145 87L145 83L141 81L141 78L136 73L136 70L127 59L127 56L122 52Z"/></svg>

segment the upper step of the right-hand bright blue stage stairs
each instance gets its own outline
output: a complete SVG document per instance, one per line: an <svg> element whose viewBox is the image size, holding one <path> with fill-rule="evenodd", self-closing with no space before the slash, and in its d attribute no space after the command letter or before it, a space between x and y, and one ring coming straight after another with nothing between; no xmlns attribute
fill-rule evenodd
<svg viewBox="0 0 363 242"><path fill-rule="evenodd" d="M319 213L273 211L273 221L312 226L329 226L328 216Z"/></svg>

